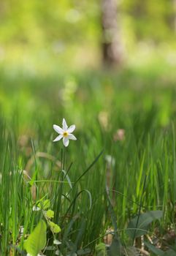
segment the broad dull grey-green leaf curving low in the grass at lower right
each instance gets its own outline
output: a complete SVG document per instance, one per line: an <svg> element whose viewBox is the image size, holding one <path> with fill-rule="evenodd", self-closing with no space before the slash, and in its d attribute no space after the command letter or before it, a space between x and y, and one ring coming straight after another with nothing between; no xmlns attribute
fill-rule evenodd
<svg viewBox="0 0 176 256"><path fill-rule="evenodd" d="M139 216L139 222L137 225L137 217L134 219L131 219L129 222L129 225L127 227L127 233L131 238L135 238L142 236L146 233L148 233L148 226L151 222L153 222L156 219L161 219L163 216L163 211L148 211L145 214L140 214ZM137 228L136 228L137 225Z"/></svg>

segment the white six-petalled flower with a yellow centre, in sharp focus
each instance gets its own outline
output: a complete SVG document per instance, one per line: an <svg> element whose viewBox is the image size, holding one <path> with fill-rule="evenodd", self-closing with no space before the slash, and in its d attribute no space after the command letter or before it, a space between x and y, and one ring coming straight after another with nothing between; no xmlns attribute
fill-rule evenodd
<svg viewBox="0 0 176 256"><path fill-rule="evenodd" d="M62 128L56 124L53 125L53 129L55 129L55 131L58 132L59 134L58 137L56 137L56 139L53 141L55 142L63 138L64 146L65 147L69 146L69 140L77 140L77 138L74 135L72 135L72 132L74 131L75 128L76 127L74 124L72 124L71 127L68 128L66 121L63 118Z"/></svg>

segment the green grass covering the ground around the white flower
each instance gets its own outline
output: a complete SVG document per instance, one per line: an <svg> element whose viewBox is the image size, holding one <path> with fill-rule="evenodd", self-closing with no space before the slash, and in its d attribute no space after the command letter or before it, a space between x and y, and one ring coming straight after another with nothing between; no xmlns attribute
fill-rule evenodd
<svg viewBox="0 0 176 256"><path fill-rule="evenodd" d="M139 207L164 211L161 233L175 225L173 78L123 70L12 80L2 72L0 84L1 255L23 255L26 236L45 219L32 211L42 197L61 227L63 255L94 252L115 219L123 243L131 243L125 229ZM77 126L77 141L64 151L61 141L52 142L62 118ZM117 129L125 130L123 140L114 139ZM49 227L47 239L51 246Z"/></svg>

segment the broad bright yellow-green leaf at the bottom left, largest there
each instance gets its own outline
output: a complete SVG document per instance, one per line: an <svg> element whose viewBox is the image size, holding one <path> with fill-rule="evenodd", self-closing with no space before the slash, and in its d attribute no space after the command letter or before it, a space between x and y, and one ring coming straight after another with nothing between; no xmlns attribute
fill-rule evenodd
<svg viewBox="0 0 176 256"><path fill-rule="evenodd" d="M31 256L37 256L37 254L45 248L47 241L46 230L46 223L41 220L25 241L24 248Z"/></svg>

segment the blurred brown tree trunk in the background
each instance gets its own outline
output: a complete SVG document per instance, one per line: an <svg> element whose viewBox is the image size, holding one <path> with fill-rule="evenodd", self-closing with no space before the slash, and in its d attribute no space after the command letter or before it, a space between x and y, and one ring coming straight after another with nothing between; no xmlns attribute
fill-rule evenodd
<svg viewBox="0 0 176 256"><path fill-rule="evenodd" d="M102 55L105 66L120 66L123 61L123 45L116 0L102 0Z"/></svg>

